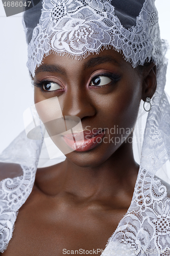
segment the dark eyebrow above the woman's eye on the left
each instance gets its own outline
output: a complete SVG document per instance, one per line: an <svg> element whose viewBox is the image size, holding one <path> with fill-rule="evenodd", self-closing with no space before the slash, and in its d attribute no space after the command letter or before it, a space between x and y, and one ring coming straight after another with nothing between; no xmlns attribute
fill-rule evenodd
<svg viewBox="0 0 170 256"><path fill-rule="evenodd" d="M50 65L44 64L44 65L39 66L35 71L35 75L40 73L40 72L52 72L52 73L56 72L56 73L59 73L59 74L64 75L64 76L66 75L65 70L61 66L52 65L52 64L50 64Z"/></svg>

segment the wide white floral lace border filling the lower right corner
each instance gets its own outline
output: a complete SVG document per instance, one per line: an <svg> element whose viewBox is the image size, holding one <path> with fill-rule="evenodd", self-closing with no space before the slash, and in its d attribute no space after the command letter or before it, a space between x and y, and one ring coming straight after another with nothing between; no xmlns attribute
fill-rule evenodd
<svg viewBox="0 0 170 256"><path fill-rule="evenodd" d="M169 255L169 220L170 199L166 197L166 187L140 168L131 206L102 256L117 255L118 250L125 255Z"/></svg>

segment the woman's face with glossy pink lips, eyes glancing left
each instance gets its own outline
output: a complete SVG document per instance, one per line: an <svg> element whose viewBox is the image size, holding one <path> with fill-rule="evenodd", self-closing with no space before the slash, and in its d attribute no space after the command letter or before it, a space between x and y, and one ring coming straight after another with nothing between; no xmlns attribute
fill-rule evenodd
<svg viewBox="0 0 170 256"><path fill-rule="evenodd" d="M64 153L69 148L66 157L71 162L84 167L96 166L111 157L122 144L132 143L143 78L122 54L110 49L82 60L51 54L36 69L34 84L38 84L35 103L49 99L44 101L49 104L37 109L44 123L55 118L61 120L62 116L65 120L69 120L69 116L81 120L84 132L81 133L80 128L74 130L75 138L70 131L65 136L62 131L57 132L59 122L45 124L60 150Z"/></svg>

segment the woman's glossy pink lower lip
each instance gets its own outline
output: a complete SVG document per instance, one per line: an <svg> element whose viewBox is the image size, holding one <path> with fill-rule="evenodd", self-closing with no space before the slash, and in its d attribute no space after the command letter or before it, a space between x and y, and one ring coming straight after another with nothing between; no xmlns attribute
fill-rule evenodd
<svg viewBox="0 0 170 256"><path fill-rule="evenodd" d="M73 140L70 140L65 136L63 136L62 138L72 150L77 152L85 152L85 151L92 150L92 148L94 148L99 143L101 143L104 135L105 135L105 132L97 134L94 137L91 137L89 139L78 140L75 143L73 142Z"/></svg>

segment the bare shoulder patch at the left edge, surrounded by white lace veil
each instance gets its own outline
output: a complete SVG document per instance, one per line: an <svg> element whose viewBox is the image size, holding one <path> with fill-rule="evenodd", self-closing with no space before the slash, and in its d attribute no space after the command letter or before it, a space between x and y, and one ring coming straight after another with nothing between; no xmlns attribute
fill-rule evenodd
<svg viewBox="0 0 170 256"><path fill-rule="evenodd" d="M23 175L22 168L16 163L0 162L0 181L6 178L15 178Z"/></svg>

